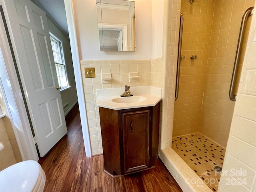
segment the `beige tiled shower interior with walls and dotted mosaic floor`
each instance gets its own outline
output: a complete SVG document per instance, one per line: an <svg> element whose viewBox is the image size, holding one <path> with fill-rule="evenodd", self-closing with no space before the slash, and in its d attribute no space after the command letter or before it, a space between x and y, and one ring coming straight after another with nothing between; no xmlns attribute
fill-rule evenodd
<svg viewBox="0 0 256 192"><path fill-rule="evenodd" d="M181 1L184 17L179 97L174 103L172 149L204 181L220 180L234 110L228 91L241 19L254 0ZM250 18L244 42L247 42ZM246 45L244 44L243 47ZM245 49L242 49L240 65ZM190 56L197 55L196 60ZM238 71L239 81L241 66ZM237 90L237 86L236 86ZM217 191L218 182L206 184Z"/></svg>

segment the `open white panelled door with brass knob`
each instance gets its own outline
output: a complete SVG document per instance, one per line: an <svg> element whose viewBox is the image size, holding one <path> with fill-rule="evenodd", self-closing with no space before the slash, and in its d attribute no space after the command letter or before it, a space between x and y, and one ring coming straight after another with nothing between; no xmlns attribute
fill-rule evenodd
<svg viewBox="0 0 256 192"><path fill-rule="evenodd" d="M31 1L7 0L5 18L38 143L44 156L67 132L46 14ZM5 9L6 8L6 9Z"/></svg>

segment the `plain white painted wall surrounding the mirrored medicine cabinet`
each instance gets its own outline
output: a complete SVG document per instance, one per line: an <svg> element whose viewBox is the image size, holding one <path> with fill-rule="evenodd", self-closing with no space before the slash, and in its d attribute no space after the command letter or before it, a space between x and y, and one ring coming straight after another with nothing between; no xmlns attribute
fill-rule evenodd
<svg viewBox="0 0 256 192"><path fill-rule="evenodd" d="M152 58L151 0L135 1L135 52L100 51L96 0L74 0L73 9L80 60L127 60Z"/></svg>

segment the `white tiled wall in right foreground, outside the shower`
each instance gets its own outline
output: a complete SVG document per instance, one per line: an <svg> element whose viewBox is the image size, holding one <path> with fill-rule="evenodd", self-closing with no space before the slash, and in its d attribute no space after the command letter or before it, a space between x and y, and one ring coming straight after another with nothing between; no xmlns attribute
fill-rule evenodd
<svg viewBox="0 0 256 192"><path fill-rule="evenodd" d="M256 191L255 30L256 15L253 14L219 192ZM238 174L234 174L234 171Z"/></svg>

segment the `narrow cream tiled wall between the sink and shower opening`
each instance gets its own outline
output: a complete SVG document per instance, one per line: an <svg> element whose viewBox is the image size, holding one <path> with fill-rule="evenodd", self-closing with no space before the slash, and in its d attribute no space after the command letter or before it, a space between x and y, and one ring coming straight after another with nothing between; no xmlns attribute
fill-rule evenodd
<svg viewBox="0 0 256 192"><path fill-rule="evenodd" d="M158 86L162 91L161 111L161 145L160 148L168 148L172 145L172 127L174 114L176 63L178 58L178 37L181 1L164 1L164 34L163 56L152 60L153 72L151 76L152 86ZM162 76L162 80L160 77ZM157 78L156 78L157 77Z"/></svg>

